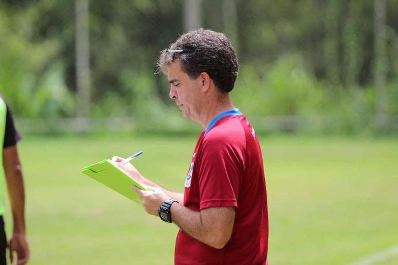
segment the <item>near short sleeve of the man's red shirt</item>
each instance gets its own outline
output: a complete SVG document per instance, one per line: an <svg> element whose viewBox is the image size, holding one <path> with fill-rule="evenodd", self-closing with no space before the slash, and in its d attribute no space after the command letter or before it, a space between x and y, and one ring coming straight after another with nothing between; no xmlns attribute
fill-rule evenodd
<svg viewBox="0 0 398 265"><path fill-rule="evenodd" d="M208 207L238 207L243 175L243 150L212 139L204 143L199 165L200 210Z"/></svg>

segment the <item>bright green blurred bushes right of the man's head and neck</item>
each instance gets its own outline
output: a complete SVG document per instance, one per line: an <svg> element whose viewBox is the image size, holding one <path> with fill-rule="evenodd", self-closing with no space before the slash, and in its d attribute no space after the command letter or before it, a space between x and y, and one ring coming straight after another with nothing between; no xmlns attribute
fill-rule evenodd
<svg viewBox="0 0 398 265"><path fill-rule="evenodd" d="M373 129L373 87L343 89L318 81L298 54L285 55L269 67L242 66L232 92L248 116L306 117L312 124L296 129L362 133ZM393 98L396 89L390 86ZM395 105L390 100L390 105ZM310 127L308 127L310 126Z"/></svg>

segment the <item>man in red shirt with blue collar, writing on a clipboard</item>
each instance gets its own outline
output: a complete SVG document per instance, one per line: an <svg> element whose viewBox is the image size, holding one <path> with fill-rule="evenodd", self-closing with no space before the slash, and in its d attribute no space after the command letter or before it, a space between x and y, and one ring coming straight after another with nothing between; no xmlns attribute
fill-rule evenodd
<svg viewBox="0 0 398 265"><path fill-rule="evenodd" d="M204 128L185 192L160 187L131 164L120 167L149 186L150 191L133 187L145 210L179 226L175 264L266 264L261 149L254 129L229 98L238 75L236 52L224 34L198 29L180 36L158 64L171 84L170 98L184 117Z"/></svg>

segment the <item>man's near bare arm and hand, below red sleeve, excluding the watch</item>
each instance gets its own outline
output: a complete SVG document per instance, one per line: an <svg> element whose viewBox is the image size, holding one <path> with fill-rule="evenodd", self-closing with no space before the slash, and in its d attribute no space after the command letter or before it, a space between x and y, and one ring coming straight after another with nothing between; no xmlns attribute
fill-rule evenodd
<svg viewBox="0 0 398 265"><path fill-rule="evenodd" d="M160 205L169 199L159 188L151 188L152 191L133 188L139 194L145 210L151 215L157 216ZM209 207L196 212L182 204L173 203L170 209L172 221L191 237L216 249L224 248L229 241L235 207Z"/></svg>

